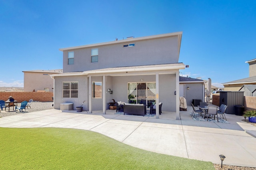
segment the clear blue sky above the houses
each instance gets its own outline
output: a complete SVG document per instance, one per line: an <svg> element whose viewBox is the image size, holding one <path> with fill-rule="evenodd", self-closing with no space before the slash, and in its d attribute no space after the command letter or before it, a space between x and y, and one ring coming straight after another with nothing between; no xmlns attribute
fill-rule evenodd
<svg viewBox="0 0 256 170"><path fill-rule="evenodd" d="M181 74L221 87L249 77L255 30L256 0L0 0L0 86L62 68L60 48L182 31Z"/></svg>

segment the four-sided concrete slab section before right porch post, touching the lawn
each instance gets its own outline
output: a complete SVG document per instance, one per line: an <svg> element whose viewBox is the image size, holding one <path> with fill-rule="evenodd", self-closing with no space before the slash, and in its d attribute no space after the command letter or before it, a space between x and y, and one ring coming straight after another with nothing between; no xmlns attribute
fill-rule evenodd
<svg viewBox="0 0 256 170"><path fill-rule="evenodd" d="M140 149L188 158L183 131L141 125L123 143Z"/></svg>

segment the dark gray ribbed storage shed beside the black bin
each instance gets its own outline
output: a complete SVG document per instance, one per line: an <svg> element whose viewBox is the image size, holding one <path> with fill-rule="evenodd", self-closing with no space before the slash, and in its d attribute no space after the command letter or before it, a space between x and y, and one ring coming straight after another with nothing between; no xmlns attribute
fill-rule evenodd
<svg viewBox="0 0 256 170"><path fill-rule="evenodd" d="M225 113L235 114L235 105L244 106L244 92L220 91L220 105L227 105Z"/></svg>

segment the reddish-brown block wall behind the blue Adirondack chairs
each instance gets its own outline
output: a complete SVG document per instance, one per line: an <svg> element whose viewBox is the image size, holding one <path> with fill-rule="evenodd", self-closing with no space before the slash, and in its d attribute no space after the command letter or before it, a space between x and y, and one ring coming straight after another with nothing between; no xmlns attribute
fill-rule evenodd
<svg viewBox="0 0 256 170"><path fill-rule="evenodd" d="M8 100L12 96L18 103L33 99L38 102L52 102L53 92L0 92L0 100Z"/></svg>

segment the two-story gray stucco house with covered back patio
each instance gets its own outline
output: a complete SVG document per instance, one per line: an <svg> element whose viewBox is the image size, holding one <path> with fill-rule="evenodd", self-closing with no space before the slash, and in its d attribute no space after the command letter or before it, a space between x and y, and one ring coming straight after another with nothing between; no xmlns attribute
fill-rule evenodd
<svg viewBox="0 0 256 170"><path fill-rule="evenodd" d="M179 115L179 63L182 32L130 37L123 40L68 47L63 73L54 78L54 108L64 102L106 114L112 99L156 104ZM159 118L156 107L156 118Z"/></svg>

